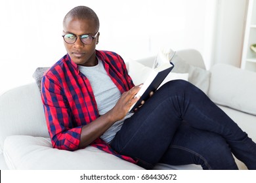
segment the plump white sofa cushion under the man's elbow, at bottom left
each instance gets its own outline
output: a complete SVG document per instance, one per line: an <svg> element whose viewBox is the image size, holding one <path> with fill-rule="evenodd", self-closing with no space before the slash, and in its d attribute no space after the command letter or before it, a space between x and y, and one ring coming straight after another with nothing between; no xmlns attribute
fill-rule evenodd
<svg viewBox="0 0 256 183"><path fill-rule="evenodd" d="M58 150L43 137L9 136L3 152L9 169L142 169L92 146L74 152Z"/></svg>

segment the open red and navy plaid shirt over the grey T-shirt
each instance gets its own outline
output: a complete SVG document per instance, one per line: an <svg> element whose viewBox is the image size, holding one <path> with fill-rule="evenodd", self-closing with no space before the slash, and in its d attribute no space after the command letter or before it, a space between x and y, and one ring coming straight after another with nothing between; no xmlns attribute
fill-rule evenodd
<svg viewBox="0 0 256 183"><path fill-rule="evenodd" d="M96 50L96 56L102 60L106 72L121 93L134 86L119 55ZM43 75L41 99L53 147L77 150L82 126L96 120L99 114L89 80L80 73L68 54ZM91 146L135 163L134 159L114 152L100 138Z"/></svg>

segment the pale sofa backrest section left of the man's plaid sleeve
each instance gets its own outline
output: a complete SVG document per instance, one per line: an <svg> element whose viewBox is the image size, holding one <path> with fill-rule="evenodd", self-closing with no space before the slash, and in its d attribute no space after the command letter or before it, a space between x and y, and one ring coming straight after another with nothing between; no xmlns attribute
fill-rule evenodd
<svg viewBox="0 0 256 183"><path fill-rule="evenodd" d="M49 137L37 84L27 84L0 96L0 145L9 135Z"/></svg>

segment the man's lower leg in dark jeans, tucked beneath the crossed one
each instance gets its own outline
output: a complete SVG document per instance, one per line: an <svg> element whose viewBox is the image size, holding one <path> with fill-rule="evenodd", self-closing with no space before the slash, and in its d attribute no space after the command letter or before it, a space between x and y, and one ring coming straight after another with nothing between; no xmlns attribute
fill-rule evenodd
<svg viewBox="0 0 256 183"><path fill-rule="evenodd" d="M182 122L160 159L168 165L201 165L203 169L237 170L226 141L217 133L195 129Z"/></svg>

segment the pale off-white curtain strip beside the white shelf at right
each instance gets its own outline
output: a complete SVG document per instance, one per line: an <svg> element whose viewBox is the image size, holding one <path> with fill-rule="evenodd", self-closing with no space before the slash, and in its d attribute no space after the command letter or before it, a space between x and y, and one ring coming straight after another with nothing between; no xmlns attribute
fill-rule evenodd
<svg viewBox="0 0 256 183"><path fill-rule="evenodd" d="M247 0L218 0L212 62L240 67Z"/></svg>

